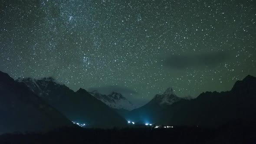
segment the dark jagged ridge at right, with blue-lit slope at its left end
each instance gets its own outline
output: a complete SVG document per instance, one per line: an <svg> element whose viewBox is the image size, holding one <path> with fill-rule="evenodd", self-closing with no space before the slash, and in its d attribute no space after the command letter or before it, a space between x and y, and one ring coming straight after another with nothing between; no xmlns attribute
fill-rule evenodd
<svg viewBox="0 0 256 144"><path fill-rule="evenodd" d="M156 96L125 117L155 124L218 127L230 121L256 120L256 78L248 75L228 92L203 92L197 98L159 105Z"/></svg>

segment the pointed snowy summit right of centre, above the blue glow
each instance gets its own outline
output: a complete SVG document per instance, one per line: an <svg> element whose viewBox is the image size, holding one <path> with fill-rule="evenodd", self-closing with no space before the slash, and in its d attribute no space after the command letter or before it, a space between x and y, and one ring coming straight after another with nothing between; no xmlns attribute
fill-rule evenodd
<svg viewBox="0 0 256 144"><path fill-rule="evenodd" d="M167 90L162 95L155 95L152 99L152 101L157 101L160 105L171 105L174 102L180 100L181 98L174 94L174 91L171 87L167 88Z"/></svg>

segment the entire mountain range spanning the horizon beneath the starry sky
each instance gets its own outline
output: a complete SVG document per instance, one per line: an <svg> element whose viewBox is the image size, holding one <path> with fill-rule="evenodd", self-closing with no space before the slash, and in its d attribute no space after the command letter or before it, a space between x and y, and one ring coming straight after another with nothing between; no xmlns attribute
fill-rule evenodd
<svg viewBox="0 0 256 144"><path fill-rule="evenodd" d="M126 127L135 124L217 128L230 121L256 121L256 78L248 75L230 91L203 92L197 98L180 98L167 88L146 105L135 108L123 95L78 91L52 77L12 79L0 72L0 134L14 131L48 131L59 127ZM72 123L73 121L73 123Z"/></svg>

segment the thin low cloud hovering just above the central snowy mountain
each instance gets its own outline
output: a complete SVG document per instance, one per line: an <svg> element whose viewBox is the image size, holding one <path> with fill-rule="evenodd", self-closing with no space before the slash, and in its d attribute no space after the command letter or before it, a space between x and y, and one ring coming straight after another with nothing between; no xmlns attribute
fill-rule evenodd
<svg viewBox="0 0 256 144"><path fill-rule="evenodd" d="M107 85L103 87L94 87L94 88L88 88L89 92L92 92L94 90L97 90L99 93L108 95L111 92L118 92L121 93L122 95L130 95L130 94L138 94L135 90L127 87L121 87L117 85Z"/></svg>

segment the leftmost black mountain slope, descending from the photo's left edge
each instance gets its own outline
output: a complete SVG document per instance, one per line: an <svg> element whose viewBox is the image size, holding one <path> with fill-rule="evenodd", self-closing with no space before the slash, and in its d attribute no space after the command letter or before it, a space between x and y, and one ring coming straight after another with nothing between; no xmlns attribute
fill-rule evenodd
<svg viewBox="0 0 256 144"><path fill-rule="evenodd" d="M0 71L0 134L48 131L71 126L64 115L35 95L23 83Z"/></svg>

